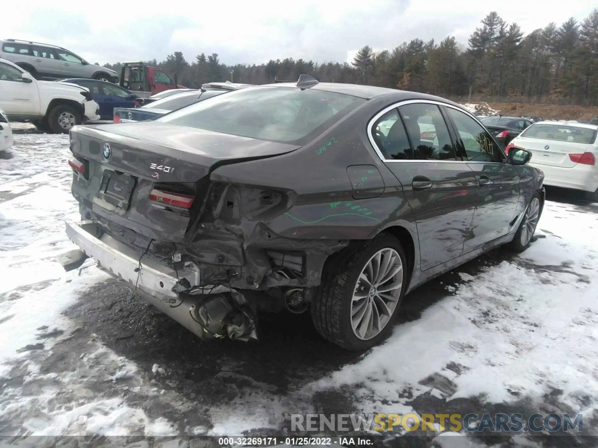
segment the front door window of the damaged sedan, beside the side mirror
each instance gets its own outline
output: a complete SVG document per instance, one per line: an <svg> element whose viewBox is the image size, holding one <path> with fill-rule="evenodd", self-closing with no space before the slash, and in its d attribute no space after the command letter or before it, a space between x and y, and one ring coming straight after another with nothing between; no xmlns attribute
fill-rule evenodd
<svg viewBox="0 0 598 448"><path fill-rule="evenodd" d="M456 131L459 133L460 149L465 151L468 161L472 162L501 162L502 154L495 141L483 126L471 116L453 108L447 108L447 113Z"/></svg>

